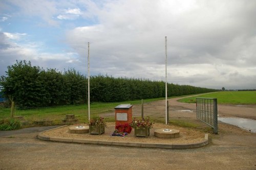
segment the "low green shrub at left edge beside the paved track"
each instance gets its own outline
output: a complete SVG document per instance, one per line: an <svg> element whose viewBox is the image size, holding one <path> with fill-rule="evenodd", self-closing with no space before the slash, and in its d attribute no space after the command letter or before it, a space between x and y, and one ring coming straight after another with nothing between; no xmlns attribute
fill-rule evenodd
<svg viewBox="0 0 256 170"><path fill-rule="evenodd" d="M22 124L20 123L20 121L15 118L7 118L0 121L1 131L20 129L21 126Z"/></svg>

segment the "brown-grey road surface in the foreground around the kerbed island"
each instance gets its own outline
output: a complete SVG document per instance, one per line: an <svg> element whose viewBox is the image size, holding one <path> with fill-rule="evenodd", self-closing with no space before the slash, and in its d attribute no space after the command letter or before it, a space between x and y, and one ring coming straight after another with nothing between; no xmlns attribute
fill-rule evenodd
<svg viewBox="0 0 256 170"><path fill-rule="evenodd" d="M256 134L238 129L206 147L169 150L37 139L50 128L0 131L0 169L256 169Z"/></svg>

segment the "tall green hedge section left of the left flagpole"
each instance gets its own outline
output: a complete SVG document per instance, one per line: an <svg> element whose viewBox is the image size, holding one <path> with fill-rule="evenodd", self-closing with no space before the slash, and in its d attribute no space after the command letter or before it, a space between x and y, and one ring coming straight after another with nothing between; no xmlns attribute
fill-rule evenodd
<svg viewBox="0 0 256 170"><path fill-rule="evenodd" d="M86 103L86 77L74 69L60 72L16 61L8 66L0 85L6 98L20 108Z"/></svg>

